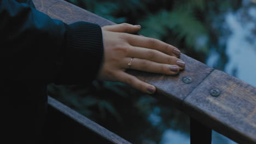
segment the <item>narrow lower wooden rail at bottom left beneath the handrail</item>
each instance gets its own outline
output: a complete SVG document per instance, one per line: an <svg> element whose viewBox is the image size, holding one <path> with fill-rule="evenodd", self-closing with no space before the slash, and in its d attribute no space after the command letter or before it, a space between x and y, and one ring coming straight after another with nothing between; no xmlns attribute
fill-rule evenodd
<svg viewBox="0 0 256 144"><path fill-rule="evenodd" d="M70 117L75 122L81 124L81 127L85 127L92 131L92 133L96 133L103 137L104 139L108 140L110 143L116 144L131 144L130 142L124 140L120 136L112 133L111 131L103 128L101 125L91 121L90 119L80 115L80 113L70 109L68 106L60 103L59 101L55 100L54 98L48 97L48 103L51 107L54 107L57 111L63 113L64 115ZM59 119L61 121L61 119ZM68 124L68 123L67 123ZM86 142L85 138L85 142Z"/></svg>

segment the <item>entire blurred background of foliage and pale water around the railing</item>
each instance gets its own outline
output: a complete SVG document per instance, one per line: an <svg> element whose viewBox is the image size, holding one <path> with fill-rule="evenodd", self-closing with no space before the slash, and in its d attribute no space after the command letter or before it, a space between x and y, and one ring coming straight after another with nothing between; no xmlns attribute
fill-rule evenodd
<svg viewBox="0 0 256 144"><path fill-rule="evenodd" d="M139 34L165 41L256 86L255 0L67 0ZM127 141L190 143L189 117L123 83L49 85L49 94ZM212 143L235 143L213 131Z"/></svg>

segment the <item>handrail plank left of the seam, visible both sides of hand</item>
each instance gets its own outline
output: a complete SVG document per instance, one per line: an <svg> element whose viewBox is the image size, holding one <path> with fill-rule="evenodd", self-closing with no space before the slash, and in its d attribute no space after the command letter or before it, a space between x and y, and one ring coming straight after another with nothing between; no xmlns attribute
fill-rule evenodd
<svg viewBox="0 0 256 144"><path fill-rule="evenodd" d="M38 10L66 23L88 21L97 23L100 26L115 24L66 1L34 0L33 2ZM207 65L186 55L181 55L181 59L186 63L186 67L176 76L141 73L136 70L129 70L128 73L156 86L158 92L154 95L155 98L161 101L167 100L170 105L181 109L182 100L213 70ZM193 82L189 84L182 82L184 76L190 76Z"/></svg>

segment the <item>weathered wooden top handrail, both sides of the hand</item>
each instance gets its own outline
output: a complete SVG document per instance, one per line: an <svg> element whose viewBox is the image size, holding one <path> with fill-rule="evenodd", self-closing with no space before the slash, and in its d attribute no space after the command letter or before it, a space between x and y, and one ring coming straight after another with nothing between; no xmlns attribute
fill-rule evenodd
<svg viewBox="0 0 256 144"><path fill-rule="evenodd" d="M66 23L88 21L100 26L115 24L63 0L33 2L38 10ZM129 73L156 86L154 97L182 110L207 127L239 143L256 143L256 88L186 55L181 55L181 59L186 68L176 76L132 70ZM185 76L193 81L184 83L182 79ZM210 95L212 88L222 91L219 97Z"/></svg>

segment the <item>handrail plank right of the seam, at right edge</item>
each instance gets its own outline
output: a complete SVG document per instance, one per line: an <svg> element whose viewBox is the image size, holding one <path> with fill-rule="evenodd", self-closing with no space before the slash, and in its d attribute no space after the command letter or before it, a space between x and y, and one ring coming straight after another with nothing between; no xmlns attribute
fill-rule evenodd
<svg viewBox="0 0 256 144"><path fill-rule="evenodd" d="M211 89L220 95L213 97ZM256 143L256 88L214 70L184 100L185 113L238 143Z"/></svg>

